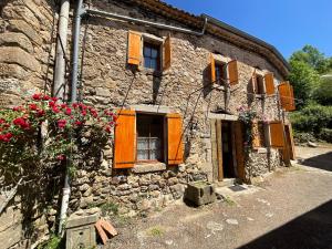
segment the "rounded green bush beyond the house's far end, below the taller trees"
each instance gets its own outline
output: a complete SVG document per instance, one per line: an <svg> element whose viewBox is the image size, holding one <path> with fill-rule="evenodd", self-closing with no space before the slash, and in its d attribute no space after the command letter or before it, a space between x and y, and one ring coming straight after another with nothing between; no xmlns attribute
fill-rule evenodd
<svg viewBox="0 0 332 249"><path fill-rule="evenodd" d="M297 132L320 134L321 129L332 128L332 106L308 105L291 113L290 118Z"/></svg>

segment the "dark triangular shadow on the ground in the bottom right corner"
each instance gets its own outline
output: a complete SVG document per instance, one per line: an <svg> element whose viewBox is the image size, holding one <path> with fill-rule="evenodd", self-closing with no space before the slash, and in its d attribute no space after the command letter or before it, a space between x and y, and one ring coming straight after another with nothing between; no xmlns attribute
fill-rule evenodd
<svg viewBox="0 0 332 249"><path fill-rule="evenodd" d="M238 249L332 249L332 200Z"/></svg>

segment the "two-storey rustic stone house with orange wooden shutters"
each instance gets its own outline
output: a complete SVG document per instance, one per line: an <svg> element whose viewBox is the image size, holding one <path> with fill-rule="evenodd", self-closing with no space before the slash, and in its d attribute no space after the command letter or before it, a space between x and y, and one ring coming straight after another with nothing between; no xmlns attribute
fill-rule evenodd
<svg viewBox="0 0 332 249"><path fill-rule="evenodd" d="M0 105L52 92L59 7L0 3ZM180 198L188 181L250 181L294 157L289 66L272 45L158 0L95 0L83 8L76 101L114 108L118 120L98 169L77 172L71 212L107 201L121 204L122 212L146 211ZM70 65L75 13L61 55ZM247 153L239 112L248 108L257 118Z"/></svg>

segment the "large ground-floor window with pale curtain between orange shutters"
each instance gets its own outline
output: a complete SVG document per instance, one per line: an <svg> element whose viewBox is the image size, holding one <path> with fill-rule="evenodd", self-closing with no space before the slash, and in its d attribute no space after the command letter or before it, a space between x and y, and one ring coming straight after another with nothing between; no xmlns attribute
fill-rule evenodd
<svg viewBox="0 0 332 249"><path fill-rule="evenodd" d="M162 162L164 116L137 114L137 160Z"/></svg>

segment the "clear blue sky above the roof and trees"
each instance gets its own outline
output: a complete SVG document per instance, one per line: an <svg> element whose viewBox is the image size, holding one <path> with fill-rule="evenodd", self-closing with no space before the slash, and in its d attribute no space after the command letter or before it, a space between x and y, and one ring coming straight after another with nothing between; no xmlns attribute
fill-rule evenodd
<svg viewBox="0 0 332 249"><path fill-rule="evenodd" d="M262 39L286 59L305 44L332 56L332 0L164 1L195 14L209 14Z"/></svg>

